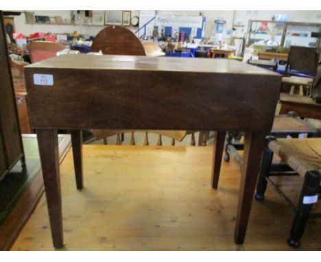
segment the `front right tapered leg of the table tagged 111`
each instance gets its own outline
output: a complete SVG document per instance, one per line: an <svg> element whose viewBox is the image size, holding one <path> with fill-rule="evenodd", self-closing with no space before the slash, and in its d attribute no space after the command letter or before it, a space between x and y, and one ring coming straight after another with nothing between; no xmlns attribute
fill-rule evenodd
<svg viewBox="0 0 321 262"><path fill-rule="evenodd" d="M235 226L235 243L243 243L248 226L255 184L261 167L266 133L247 132L244 141L241 189Z"/></svg>

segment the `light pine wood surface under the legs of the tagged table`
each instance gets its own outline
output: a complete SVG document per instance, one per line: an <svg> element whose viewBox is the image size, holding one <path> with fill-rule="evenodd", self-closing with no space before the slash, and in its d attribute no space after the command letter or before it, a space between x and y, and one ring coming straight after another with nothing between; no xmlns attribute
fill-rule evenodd
<svg viewBox="0 0 321 262"><path fill-rule="evenodd" d="M292 250L293 213L269 184L254 200L246 242L233 240L240 172L222 165L211 189L212 147L84 145L84 185L72 152L61 166L63 250ZM299 182L278 178L292 197ZM321 219L309 219L299 250L321 250ZM12 250L53 250L45 195Z"/></svg>

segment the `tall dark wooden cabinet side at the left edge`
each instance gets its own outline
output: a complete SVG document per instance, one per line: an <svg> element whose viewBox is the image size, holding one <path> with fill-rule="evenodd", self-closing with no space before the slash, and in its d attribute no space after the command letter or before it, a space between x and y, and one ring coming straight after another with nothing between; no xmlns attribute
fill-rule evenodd
<svg viewBox="0 0 321 262"><path fill-rule="evenodd" d="M16 99L5 42L3 16L0 12L0 180L21 158L23 144L19 128Z"/></svg>

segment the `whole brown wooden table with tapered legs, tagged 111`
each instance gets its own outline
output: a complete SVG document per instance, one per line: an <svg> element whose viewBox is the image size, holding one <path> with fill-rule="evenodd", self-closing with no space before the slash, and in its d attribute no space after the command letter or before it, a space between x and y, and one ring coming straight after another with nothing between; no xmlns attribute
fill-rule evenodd
<svg viewBox="0 0 321 262"><path fill-rule="evenodd" d="M82 189L80 130L92 128L216 130L212 177L220 169L225 132L246 132L235 226L235 242L243 243L281 75L235 60L80 54L31 64L25 79L56 248L63 246L57 130L71 130Z"/></svg>

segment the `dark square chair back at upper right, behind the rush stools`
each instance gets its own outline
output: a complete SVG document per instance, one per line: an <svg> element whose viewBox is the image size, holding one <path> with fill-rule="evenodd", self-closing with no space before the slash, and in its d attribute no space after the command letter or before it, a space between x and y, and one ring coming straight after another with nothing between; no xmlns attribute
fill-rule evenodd
<svg viewBox="0 0 321 262"><path fill-rule="evenodd" d="M286 74L291 74L291 71L300 71L304 74L316 75L317 69L318 52L316 47L290 47Z"/></svg>

